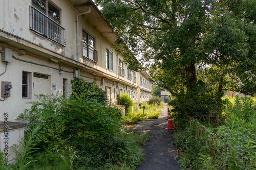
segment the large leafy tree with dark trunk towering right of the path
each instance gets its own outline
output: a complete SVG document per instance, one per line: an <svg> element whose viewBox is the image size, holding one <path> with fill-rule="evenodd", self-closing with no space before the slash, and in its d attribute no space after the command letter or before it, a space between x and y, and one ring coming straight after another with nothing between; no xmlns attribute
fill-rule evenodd
<svg viewBox="0 0 256 170"><path fill-rule="evenodd" d="M117 52L177 96L174 111L213 114L221 109L223 90L241 89L244 72L256 70L256 0L96 2L119 35Z"/></svg>

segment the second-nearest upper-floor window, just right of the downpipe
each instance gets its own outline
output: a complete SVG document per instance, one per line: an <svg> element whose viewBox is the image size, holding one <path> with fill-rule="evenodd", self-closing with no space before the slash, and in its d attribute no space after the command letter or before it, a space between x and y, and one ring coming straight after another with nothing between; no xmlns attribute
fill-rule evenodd
<svg viewBox="0 0 256 170"><path fill-rule="evenodd" d="M94 38L85 31L82 31L82 55L91 60L98 61L98 51L95 49Z"/></svg>

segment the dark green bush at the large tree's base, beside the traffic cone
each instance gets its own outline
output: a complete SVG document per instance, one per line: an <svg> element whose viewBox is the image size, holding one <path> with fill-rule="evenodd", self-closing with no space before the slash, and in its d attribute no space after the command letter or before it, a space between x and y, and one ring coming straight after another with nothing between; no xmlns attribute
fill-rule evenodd
<svg viewBox="0 0 256 170"><path fill-rule="evenodd" d="M181 91L168 105L172 106L173 122L176 127L181 127L189 122L190 116L216 115L222 113L223 93L212 92L202 87L194 87L189 91Z"/></svg>

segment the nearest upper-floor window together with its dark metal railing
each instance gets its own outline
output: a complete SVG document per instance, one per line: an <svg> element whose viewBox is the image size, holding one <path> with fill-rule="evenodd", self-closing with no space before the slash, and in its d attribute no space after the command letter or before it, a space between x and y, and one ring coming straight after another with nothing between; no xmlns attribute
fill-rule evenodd
<svg viewBox="0 0 256 170"><path fill-rule="evenodd" d="M63 45L65 29L60 26L60 9L48 0L32 0L30 29Z"/></svg>

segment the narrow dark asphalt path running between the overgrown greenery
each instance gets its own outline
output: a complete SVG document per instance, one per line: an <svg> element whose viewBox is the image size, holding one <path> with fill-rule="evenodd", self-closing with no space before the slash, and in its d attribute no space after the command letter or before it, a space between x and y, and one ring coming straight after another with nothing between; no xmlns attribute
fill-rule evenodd
<svg viewBox="0 0 256 170"><path fill-rule="evenodd" d="M145 159L137 170L180 169L177 163L177 148L172 144L174 132L166 131L167 125L167 105L165 105L160 118L139 123L132 129L134 132L150 133L150 139L142 147Z"/></svg>

